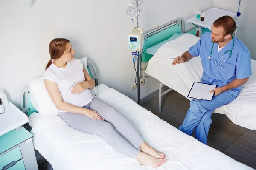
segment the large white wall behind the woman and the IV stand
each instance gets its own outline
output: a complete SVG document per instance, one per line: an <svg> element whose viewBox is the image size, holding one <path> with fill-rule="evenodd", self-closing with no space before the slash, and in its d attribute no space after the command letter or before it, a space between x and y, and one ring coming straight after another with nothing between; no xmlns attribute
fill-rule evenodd
<svg viewBox="0 0 256 170"><path fill-rule="evenodd" d="M99 83L137 100L131 91L135 74L128 49L130 18L125 7L131 0L0 0L0 89L19 104L22 88L44 74L49 42L55 37L71 41L75 57L88 57L99 72ZM157 6L158 5L158 6ZM213 0L144 0L140 27L145 31L177 17L187 19L213 6ZM146 78L141 98L158 89L160 82Z"/></svg>

